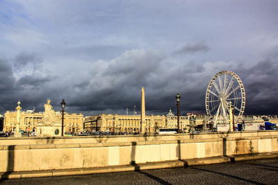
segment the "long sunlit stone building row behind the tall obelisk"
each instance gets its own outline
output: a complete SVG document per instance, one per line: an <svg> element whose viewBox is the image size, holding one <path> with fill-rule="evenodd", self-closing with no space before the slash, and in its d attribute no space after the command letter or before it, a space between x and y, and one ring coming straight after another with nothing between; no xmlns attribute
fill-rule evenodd
<svg viewBox="0 0 278 185"><path fill-rule="evenodd" d="M208 124L204 115L187 114L179 116L180 128L183 132L189 132L190 127L198 127L199 125ZM140 132L140 115L117 115L117 114L100 114L97 116L88 116L84 118L84 130L88 132ZM158 132L160 128L177 128L177 116L171 109L164 116L151 115L145 116L144 132Z"/></svg>

